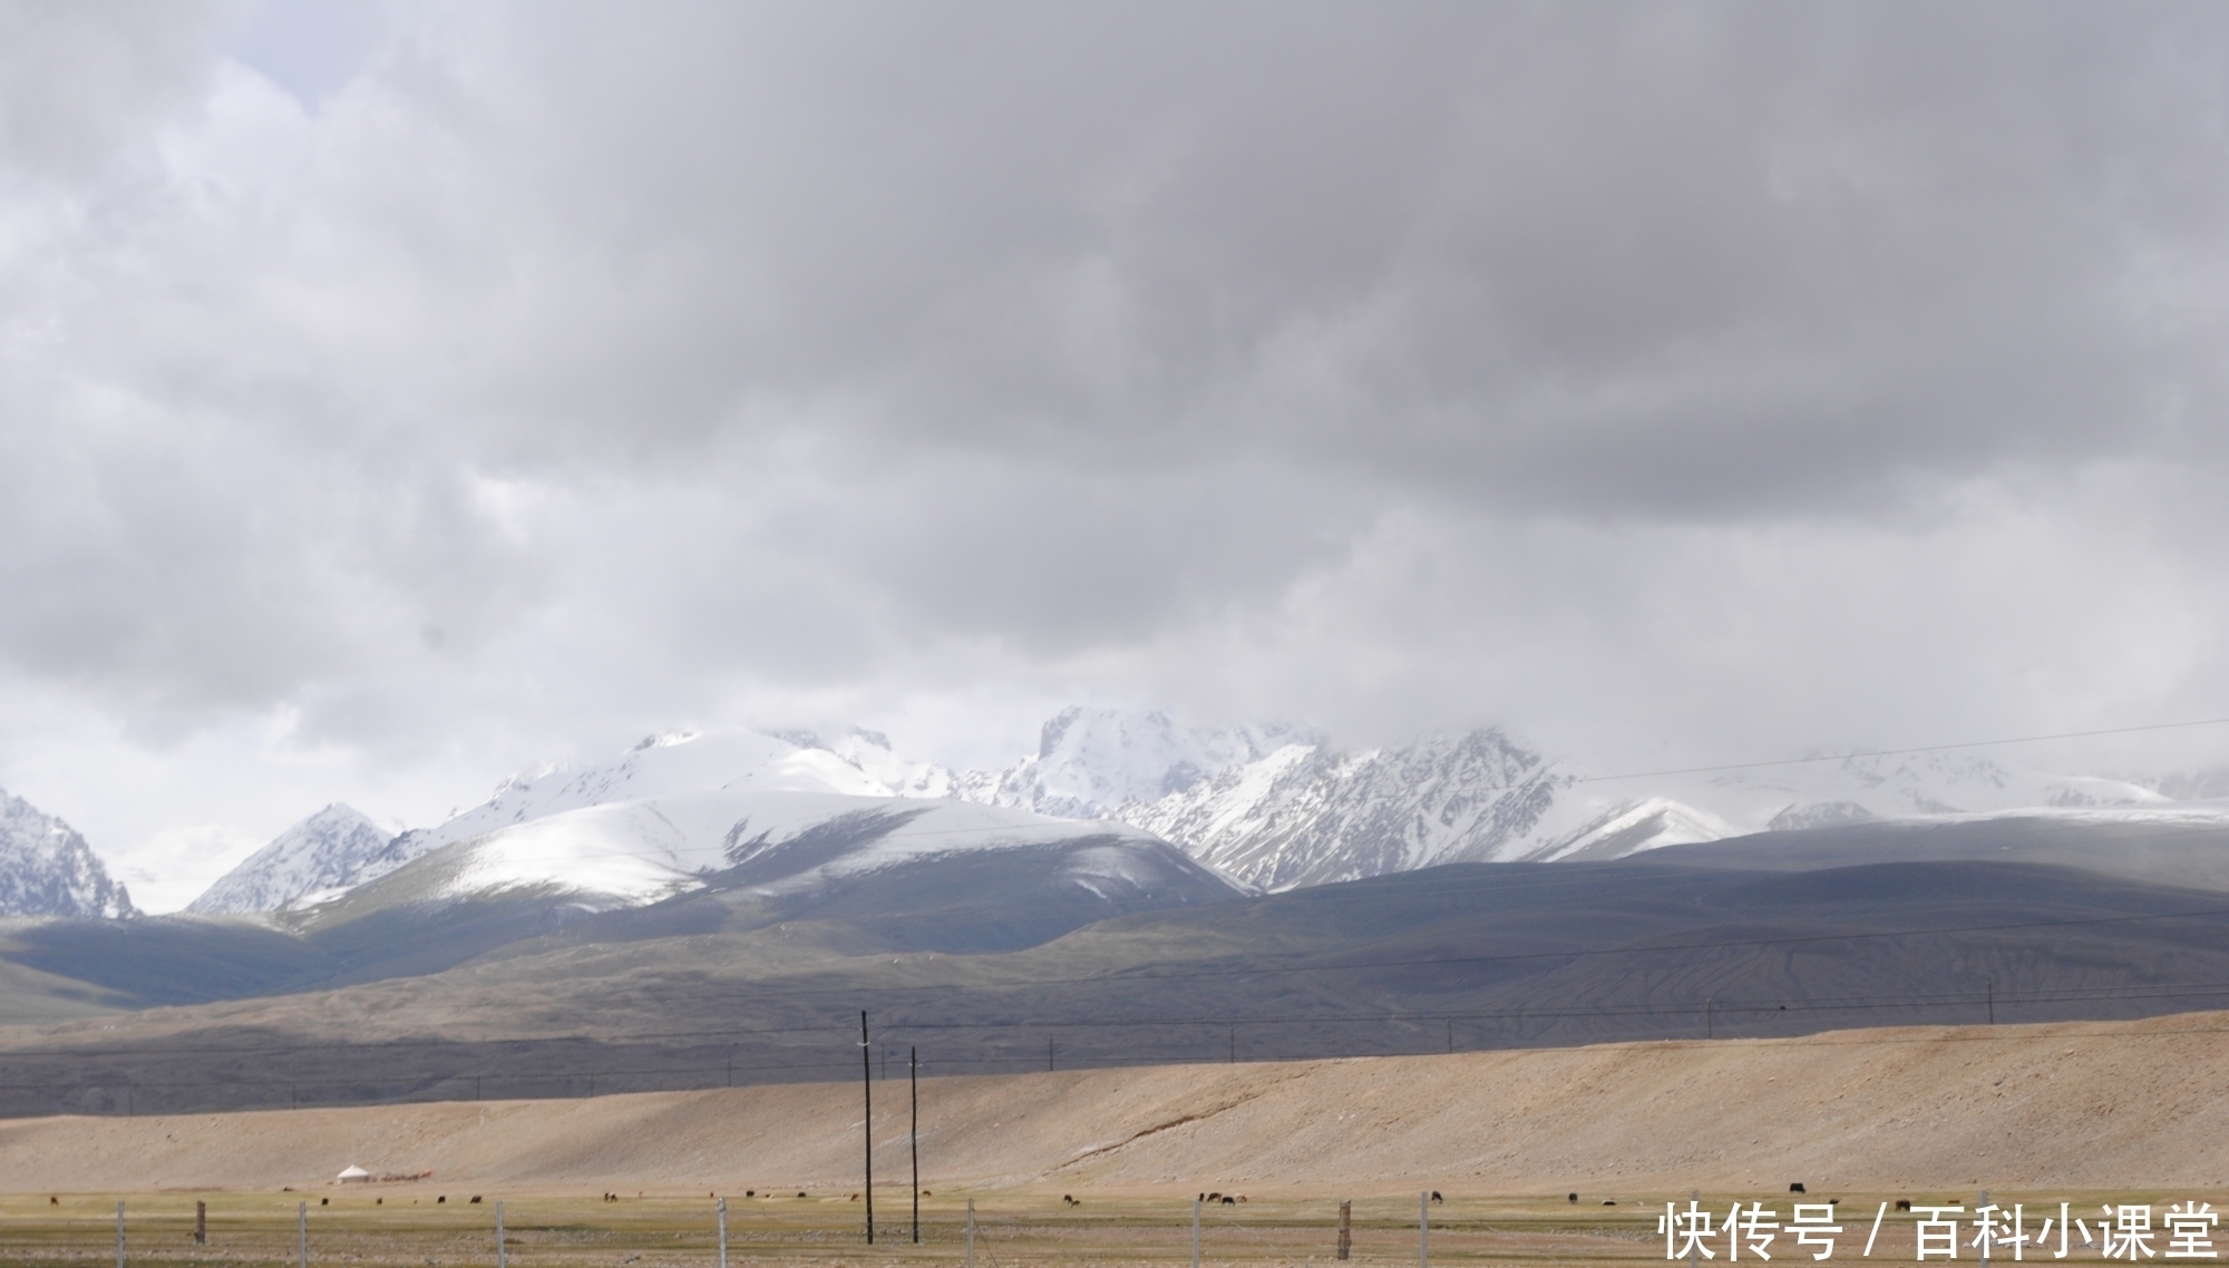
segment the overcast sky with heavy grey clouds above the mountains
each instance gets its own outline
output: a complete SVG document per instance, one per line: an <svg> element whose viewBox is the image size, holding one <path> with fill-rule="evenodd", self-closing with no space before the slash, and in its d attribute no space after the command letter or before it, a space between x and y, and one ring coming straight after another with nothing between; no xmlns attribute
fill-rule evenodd
<svg viewBox="0 0 2229 1268"><path fill-rule="evenodd" d="M680 726L2229 715L2222 67L2218 4L7 2L0 787L147 889Z"/></svg>

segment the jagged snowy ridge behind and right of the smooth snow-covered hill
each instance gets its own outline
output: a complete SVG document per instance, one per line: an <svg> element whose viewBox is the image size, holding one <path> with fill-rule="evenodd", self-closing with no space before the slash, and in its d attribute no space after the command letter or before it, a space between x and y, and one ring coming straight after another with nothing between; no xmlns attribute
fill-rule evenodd
<svg viewBox="0 0 2229 1268"><path fill-rule="evenodd" d="M907 762L874 733L829 751L905 796L1117 818L1266 889L1438 862L1623 858L1868 818L2115 816L2169 804L2140 784L1970 753L1618 776L1547 758L1496 729L1340 753L1297 726L1186 731L1166 713L1086 709L1052 718L1039 751L1003 771Z"/></svg>

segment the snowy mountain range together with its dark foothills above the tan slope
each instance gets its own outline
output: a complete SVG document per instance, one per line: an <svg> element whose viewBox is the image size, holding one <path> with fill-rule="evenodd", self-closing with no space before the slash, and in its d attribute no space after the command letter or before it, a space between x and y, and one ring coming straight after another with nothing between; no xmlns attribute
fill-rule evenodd
<svg viewBox="0 0 2229 1268"><path fill-rule="evenodd" d="M1950 755L658 735L432 829L325 807L194 914L0 925L0 1114L856 1076L863 1009L947 1072L2144 1016L2229 1001L2225 891L2213 802Z"/></svg>

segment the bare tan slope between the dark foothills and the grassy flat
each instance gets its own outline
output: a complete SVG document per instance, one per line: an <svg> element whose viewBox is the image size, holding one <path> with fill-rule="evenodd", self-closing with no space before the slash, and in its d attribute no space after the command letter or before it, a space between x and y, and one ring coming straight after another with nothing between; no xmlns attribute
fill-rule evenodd
<svg viewBox="0 0 2229 1268"><path fill-rule="evenodd" d="M2229 1181L2229 1014L921 1083L925 1188L1585 1190ZM905 1083L876 1083L903 1190ZM858 1188L858 1085L0 1123L0 1192ZM403 1186L399 1186L403 1188ZM408 1186L417 1192L417 1186Z"/></svg>

